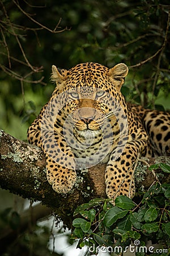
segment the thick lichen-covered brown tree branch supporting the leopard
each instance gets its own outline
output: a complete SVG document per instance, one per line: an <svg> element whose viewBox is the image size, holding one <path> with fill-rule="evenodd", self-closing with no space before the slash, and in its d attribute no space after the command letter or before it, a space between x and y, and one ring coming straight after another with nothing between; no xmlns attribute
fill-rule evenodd
<svg viewBox="0 0 170 256"><path fill-rule="evenodd" d="M155 180L155 175L146 168L146 163L154 164L155 159L146 161L139 162L136 174L137 187L143 185L144 189L150 187ZM161 162L167 161L169 158L161 158ZM66 195L57 194L46 180L45 156L42 150L0 130L1 187L24 198L41 201L67 225L68 216L72 216L78 205L96 197L106 198L104 172L105 164L77 171L77 181L71 192Z"/></svg>

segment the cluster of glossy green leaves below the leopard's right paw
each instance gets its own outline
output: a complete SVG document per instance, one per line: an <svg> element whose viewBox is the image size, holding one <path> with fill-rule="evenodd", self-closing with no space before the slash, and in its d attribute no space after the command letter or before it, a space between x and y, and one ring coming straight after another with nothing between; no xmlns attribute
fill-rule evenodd
<svg viewBox="0 0 170 256"><path fill-rule="evenodd" d="M169 172L167 164L159 164L164 172ZM157 166L151 166L151 170ZM94 199L75 209L71 240L79 240L78 247L117 246L122 250L131 241L138 246L146 246L146 241L160 243L163 248L170 245L170 185L153 183L140 203L136 204L127 196L118 196L113 206L108 199ZM113 242L114 241L114 242ZM118 251L119 252L119 251ZM117 253L118 253L117 252ZM145 255L136 254L136 255ZM162 255L162 254L161 254Z"/></svg>

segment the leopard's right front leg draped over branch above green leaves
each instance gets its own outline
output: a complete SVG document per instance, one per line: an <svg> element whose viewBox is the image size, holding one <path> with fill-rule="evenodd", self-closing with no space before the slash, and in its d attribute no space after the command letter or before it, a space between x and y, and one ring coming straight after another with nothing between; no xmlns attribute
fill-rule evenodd
<svg viewBox="0 0 170 256"><path fill-rule="evenodd" d="M105 183L107 196L113 201L119 195L134 197L134 171L139 155L139 144L134 142L126 144L116 160L114 160L114 152L111 154L105 171Z"/></svg>

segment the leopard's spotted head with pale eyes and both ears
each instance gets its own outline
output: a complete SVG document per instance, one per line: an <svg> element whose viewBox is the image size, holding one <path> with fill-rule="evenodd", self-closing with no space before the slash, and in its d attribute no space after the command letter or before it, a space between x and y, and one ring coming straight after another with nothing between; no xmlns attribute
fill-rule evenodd
<svg viewBox="0 0 170 256"><path fill-rule="evenodd" d="M52 80L57 86L52 97L62 93L62 113L74 119L76 132L94 133L100 130L105 118L113 116L113 108L125 105L120 89L127 75L128 67L123 63L110 69L97 63L83 63L69 71L53 65ZM111 119L114 122L115 117Z"/></svg>

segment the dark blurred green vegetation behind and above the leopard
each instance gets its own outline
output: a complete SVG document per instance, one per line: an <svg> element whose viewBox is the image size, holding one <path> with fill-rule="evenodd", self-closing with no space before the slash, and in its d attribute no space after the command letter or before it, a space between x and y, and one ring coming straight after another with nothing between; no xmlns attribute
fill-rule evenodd
<svg viewBox="0 0 170 256"><path fill-rule="evenodd" d="M1 129L27 139L53 92L52 64L123 62L129 67L126 99L169 109L169 11L169 0L0 0Z"/></svg>

